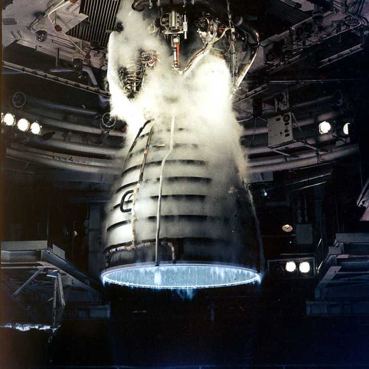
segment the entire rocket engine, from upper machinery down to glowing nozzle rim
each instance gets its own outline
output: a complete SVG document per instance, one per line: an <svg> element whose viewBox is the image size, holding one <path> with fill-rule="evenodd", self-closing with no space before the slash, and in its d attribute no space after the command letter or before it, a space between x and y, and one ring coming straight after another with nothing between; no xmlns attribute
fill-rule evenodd
<svg viewBox="0 0 369 369"><path fill-rule="evenodd" d="M137 3L133 9L153 7ZM125 105L145 119L120 116L136 131L107 212L104 283L194 289L259 281L257 221L230 102L237 43L244 49L248 34L233 26L224 3L225 19L202 3L191 10L183 1L156 4L147 27L154 40L135 44L136 62L109 59L111 92L120 88L112 92L112 113ZM129 16L122 16L122 33L138 24ZM119 35L111 37L110 55L119 45ZM185 40L192 53L180 51ZM202 47L193 53L195 42Z"/></svg>

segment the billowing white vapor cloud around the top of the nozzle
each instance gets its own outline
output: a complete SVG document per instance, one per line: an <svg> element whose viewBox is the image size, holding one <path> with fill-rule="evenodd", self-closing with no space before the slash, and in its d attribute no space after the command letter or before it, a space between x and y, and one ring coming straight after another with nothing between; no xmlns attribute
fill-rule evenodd
<svg viewBox="0 0 369 369"><path fill-rule="evenodd" d="M124 3L117 19L124 30L112 32L109 38L108 82L111 114L128 125L122 155L146 120L174 114L202 140L213 161L219 160L217 166L231 155L244 179L246 161L237 145L241 128L229 99L231 76L226 61L207 53L190 73L181 75L172 68L167 42L149 33L153 19L144 19L142 13L133 11L130 2ZM153 69L147 69L143 88L130 100L122 89L118 69L137 60L142 50L155 50L159 60Z"/></svg>

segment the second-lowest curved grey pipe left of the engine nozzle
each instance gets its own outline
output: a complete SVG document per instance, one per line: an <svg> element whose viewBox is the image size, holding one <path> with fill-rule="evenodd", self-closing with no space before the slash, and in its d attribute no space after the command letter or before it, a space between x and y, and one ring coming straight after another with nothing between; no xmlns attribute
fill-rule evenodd
<svg viewBox="0 0 369 369"><path fill-rule="evenodd" d="M115 157L115 156L118 156L119 154L119 149L79 144L76 142L61 141L57 139L49 139L47 141L43 141L41 138L36 137L36 138L30 139L30 142L40 145L40 146L67 150L67 151L70 150L70 151L76 151L76 152L83 152L83 153L95 154L95 155L105 155L105 156Z"/></svg>

